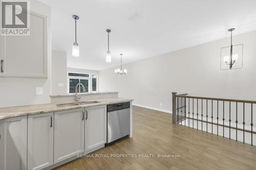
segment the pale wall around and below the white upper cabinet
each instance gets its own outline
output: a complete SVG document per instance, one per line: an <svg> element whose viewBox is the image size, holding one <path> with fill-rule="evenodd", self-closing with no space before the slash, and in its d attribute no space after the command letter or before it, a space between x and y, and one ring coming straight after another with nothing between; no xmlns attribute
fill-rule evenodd
<svg viewBox="0 0 256 170"><path fill-rule="evenodd" d="M30 9L50 18L49 6L36 0L30 1ZM0 107L50 103L51 91L51 26L48 19L48 79L0 78ZM42 87L42 95L36 95L36 87Z"/></svg>

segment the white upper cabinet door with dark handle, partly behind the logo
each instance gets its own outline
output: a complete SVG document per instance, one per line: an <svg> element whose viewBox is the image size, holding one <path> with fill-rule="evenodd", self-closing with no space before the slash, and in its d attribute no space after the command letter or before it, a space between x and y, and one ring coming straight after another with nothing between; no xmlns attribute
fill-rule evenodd
<svg viewBox="0 0 256 170"><path fill-rule="evenodd" d="M0 36L0 77L47 78L47 16L30 13L30 36Z"/></svg>

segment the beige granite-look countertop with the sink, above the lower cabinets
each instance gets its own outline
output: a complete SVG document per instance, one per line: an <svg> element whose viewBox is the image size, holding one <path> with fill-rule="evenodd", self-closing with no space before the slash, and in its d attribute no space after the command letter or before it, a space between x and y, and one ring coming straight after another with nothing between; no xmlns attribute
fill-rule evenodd
<svg viewBox="0 0 256 170"><path fill-rule="evenodd" d="M111 104L117 104L117 103L131 102L133 100L124 99L124 98L108 98L108 99L95 99L95 100L85 100L85 101L87 102L98 101L98 103L82 104L82 105L76 105L76 106L62 106L62 107L57 107L57 103L5 107L5 108L0 108L0 119L4 119L8 117L16 117L16 116L25 116L30 114L49 113L54 111L69 110L69 109L76 109L76 108L83 108L83 107L111 105ZM78 102L83 102L83 101L78 101ZM69 103L72 103L72 102L69 102ZM58 104L66 104L66 103L58 103Z"/></svg>

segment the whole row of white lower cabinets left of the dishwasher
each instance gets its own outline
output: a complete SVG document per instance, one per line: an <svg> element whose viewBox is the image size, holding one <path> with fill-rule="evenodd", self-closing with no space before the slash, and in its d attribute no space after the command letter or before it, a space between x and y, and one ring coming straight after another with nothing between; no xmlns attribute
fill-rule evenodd
<svg viewBox="0 0 256 170"><path fill-rule="evenodd" d="M104 143L106 105L5 118L0 120L0 169L38 170Z"/></svg>

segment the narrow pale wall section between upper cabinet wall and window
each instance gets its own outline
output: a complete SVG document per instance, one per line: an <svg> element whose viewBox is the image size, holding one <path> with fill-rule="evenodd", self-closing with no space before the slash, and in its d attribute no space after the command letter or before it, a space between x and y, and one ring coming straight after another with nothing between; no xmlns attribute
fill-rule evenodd
<svg viewBox="0 0 256 170"><path fill-rule="evenodd" d="M67 53L52 51L51 67L52 67L52 82L51 82L52 94L67 93Z"/></svg>

